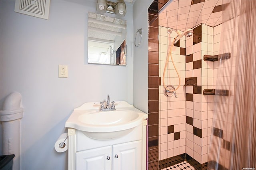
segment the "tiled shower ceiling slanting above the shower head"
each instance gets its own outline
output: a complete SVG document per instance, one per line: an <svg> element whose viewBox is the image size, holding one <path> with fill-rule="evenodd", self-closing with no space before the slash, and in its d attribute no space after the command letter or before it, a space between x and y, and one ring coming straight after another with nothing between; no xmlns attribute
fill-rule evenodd
<svg viewBox="0 0 256 170"><path fill-rule="evenodd" d="M201 23L212 27L222 23L222 0L173 0L159 14L159 26L176 30L185 31Z"/></svg>

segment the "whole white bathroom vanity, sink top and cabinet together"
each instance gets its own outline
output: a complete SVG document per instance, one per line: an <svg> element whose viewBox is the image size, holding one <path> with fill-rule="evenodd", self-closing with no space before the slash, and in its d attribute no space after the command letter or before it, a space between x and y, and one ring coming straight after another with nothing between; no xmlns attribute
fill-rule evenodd
<svg viewBox="0 0 256 170"><path fill-rule="evenodd" d="M115 108L89 102L74 109L65 124L68 170L146 170L148 115L126 101Z"/></svg>

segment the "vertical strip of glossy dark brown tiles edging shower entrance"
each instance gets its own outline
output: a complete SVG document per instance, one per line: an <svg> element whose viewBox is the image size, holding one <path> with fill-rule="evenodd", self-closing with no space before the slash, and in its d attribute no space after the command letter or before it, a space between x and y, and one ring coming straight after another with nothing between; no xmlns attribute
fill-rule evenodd
<svg viewBox="0 0 256 170"><path fill-rule="evenodd" d="M167 0L154 0L148 8L148 170L158 170L158 10Z"/></svg>

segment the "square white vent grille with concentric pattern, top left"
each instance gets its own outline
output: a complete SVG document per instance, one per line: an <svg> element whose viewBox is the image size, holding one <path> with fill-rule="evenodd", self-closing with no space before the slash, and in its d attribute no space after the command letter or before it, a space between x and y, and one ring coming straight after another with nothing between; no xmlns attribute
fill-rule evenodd
<svg viewBox="0 0 256 170"><path fill-rule="evenodd" d="M50 0L16 0L15 12L48 20Z"/></svg>

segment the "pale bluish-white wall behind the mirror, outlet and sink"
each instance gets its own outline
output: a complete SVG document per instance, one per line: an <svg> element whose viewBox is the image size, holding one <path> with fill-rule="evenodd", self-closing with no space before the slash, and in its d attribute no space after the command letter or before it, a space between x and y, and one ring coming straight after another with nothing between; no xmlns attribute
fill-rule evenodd
<svg viewBox="0 0 256 170"><path fill-rule="evenodd" d="M67 152L57 153L54 143L75 107L108 94L133 104L132 5L126 4L124 17L127 65L91 65L87 17L88 11L96 12L96 2L52 0L44 20L14 12L14 0L0 1L1 106L8 94L21 93L22 170L67 169ZM68 65L68 78L58 78L59 64Z"/></svg>

